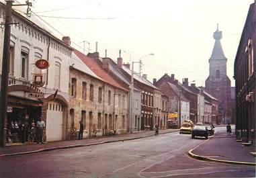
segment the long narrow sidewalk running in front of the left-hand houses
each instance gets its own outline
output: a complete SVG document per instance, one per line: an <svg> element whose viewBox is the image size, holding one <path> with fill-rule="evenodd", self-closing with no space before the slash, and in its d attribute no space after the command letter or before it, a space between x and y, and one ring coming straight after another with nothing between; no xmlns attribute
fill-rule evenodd
<svg viewBox="0 0 256 178"><path fill-rule="evenodd" d="M159 131L159 134L166 134L169 132L177 132L179 131L179 129L167 129ZM86 138L83 140L65 140L57 142L48 142L45 144L23 144L17 146L5 146L3 148L0 148L0 157L7 157L19 154L31 154L34 152L46 152L50 150L75 148L81 146L91 146L95 144L104 144L108 142L120 142L124 140L145 138L148 136L155 136L155 131L137 132L134 134L122 134L116 136L103 136L97 138Z"/></svg>

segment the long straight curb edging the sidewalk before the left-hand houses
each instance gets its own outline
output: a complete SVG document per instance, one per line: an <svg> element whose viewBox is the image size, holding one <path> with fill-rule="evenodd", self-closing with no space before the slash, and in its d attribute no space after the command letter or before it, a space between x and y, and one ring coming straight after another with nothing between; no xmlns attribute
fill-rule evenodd
<svg viewBox="0 0 256 178"><path fill-rule="evenodd" d="M171 133L171 132L179 132L179 130L165 132L165 133L159 133L159 135L160 134L168 134L168 133ZM71 144L71 145L67 145L67 146L56 146L56 147L52 147L52 148L42 148L42 149L39 149L39 150L32 150L32 151L27 151L27 152L15 152L15 153L11 153L11 154L0 154L0 158L1 157L11 157L11 156L17 156L17 155L24 155L24 154L48 152L48 151L52 151L52 150L62 150L62 149L69 149L69 148L79 148L79 147L85 147L85 146L93 146L93 145L97 145L97 144L105 144L105 143L111 143L111 142L123 142L123 141L126 141L126 140L136 140L136 139L146 138L146 137L150 137L150 136L155 136L155 134L151 134L151 135L148 135L148 136L138 136L138 137L134 137L134 138L123 138L123 139L118 139L118 140L107 140L107 141L95 142L95 143L91 143L91 144Z"/></svg>

